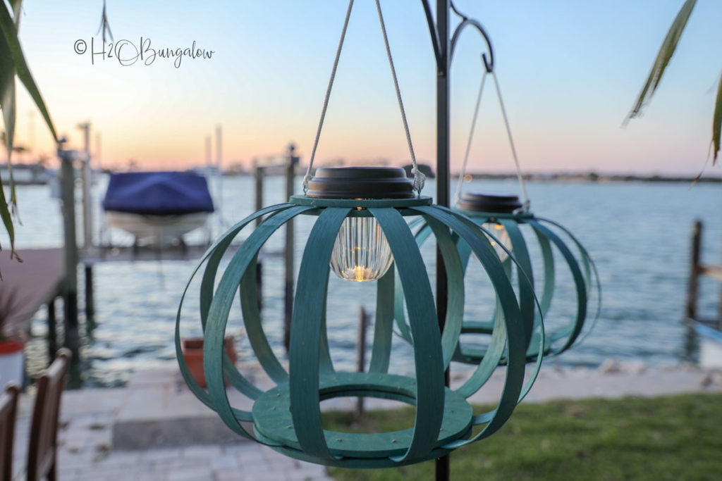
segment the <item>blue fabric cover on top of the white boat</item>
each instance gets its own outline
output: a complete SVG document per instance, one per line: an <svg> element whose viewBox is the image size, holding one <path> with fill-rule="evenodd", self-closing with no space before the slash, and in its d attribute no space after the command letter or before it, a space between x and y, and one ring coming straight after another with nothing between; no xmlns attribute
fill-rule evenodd
<svg viewBox="0 0 722 481"><path fill-rule="evenodd" d="M111 174L103 208L156 216L214 210L206 178L193 172Z"/></svg>

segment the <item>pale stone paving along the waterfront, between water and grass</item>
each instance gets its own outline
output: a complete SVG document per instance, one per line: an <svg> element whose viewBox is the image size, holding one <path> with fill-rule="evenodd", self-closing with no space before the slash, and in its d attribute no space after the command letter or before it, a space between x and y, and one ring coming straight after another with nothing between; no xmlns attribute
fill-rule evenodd
<svg viewBox="0 0 722 481"><path fill-rule="evenodd" d="M471 402L496 402L503 381L501 372L495 374ZM650 369L613 361L595 370L547 366L525 402L684 392L722 392L722 371L694 366ZM383 406L383 401L373 401L367 400L369 408ZM329 406L324 402L323 407L352 408L348 399L334 402ZM24 394L17 423L16 472L25 464L31 407L32 397ZM214 412L195 400L176 370L136 373L125 388L65 392L59 442L61 481L331 479L321 466L240 441Z"/></svg>

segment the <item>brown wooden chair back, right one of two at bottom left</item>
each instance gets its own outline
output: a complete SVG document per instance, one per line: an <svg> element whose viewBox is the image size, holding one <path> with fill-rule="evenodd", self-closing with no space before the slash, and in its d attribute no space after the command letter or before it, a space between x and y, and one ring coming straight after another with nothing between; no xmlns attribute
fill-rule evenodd
<svg viewBox="0 0 722 481"><path fill-rule="evenodd" d="M55 481L58 478L58 416L70 358L70 350L61 348L55 361L38 378L27 452L27 481L38 481L44 477Z"/></svg>

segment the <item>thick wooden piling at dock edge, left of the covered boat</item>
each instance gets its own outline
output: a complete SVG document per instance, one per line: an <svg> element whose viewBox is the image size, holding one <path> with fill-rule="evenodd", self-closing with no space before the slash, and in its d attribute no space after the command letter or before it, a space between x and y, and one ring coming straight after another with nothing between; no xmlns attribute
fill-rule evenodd
<svg viewBox="0 0 722 481"><path fill-rule="evenodd" d="M63 210L65 286L63 292L65 311L65 345L77 351L78 337L78 244L75 234L75 172L74 153L60 151L61 201Z"/></svg>

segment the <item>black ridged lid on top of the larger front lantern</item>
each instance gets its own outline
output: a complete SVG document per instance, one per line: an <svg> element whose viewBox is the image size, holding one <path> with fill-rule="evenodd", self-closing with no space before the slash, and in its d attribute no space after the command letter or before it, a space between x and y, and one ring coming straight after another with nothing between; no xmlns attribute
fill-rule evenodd
<svg viewBox="0 0 722 481"><path fill-rule="evenodd" d="M307 197L326 199L404 199L414 185L396 167L321 167L308 181Z"/></svg>

